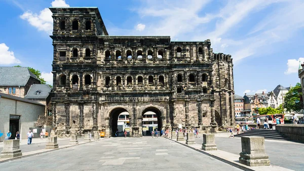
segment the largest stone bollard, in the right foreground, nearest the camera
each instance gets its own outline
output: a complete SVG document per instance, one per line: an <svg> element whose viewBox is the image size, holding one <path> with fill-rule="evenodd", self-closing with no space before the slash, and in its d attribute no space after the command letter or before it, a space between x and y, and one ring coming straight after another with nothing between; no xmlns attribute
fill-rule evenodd
<svg viewBox="0 0 304 171"><path fill-rule="evenodd" d="M242 136L242 152L239 162L248 166L268 166L269 156L265 152L265 140L262 136Z"/></svg>

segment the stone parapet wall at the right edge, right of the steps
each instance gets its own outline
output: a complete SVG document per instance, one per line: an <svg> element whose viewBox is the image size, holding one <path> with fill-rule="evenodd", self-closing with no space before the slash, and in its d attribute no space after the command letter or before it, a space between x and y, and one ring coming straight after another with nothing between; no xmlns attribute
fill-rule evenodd
<svg viewBox="0 0 304 171"><path fill-rule="evenodd" d="M304 143L304 124L278 124L276 131L282 133L291 141Z"/></svg>

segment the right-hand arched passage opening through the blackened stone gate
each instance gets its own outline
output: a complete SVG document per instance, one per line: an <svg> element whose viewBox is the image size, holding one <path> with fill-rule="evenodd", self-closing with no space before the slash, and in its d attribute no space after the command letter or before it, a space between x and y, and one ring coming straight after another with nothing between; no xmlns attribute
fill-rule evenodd
<svg viewBox="0 0 304 171"><path fill-rule="evenodd" d="M143 135L150 135L149 127L153 127L153 130L156 128L160 131L163 127L162 123L162 113L155 107L149 107L142 111L142 132ZM157 124L156 124L157 123ZM160 134L159 134L160 136Z"/></svg>

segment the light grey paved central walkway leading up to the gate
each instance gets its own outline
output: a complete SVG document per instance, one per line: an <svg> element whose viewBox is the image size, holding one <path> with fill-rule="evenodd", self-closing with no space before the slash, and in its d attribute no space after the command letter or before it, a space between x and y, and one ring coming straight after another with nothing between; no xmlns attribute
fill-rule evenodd
<svg viewBox="0 0 304 171"><path fill-rule="evenodd" d="M60 146L60 144L59 144ZM110 138L0 164L4 170L240 170L164 138Z"/></svg>

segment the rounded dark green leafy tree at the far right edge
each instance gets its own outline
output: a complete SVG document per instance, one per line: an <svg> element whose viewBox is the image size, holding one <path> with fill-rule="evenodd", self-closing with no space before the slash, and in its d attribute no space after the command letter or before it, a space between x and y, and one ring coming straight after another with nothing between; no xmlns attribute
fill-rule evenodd
<svg viewBox="0 0 304 171"><path fill-rule="evenodd" d="M296 83L294 87L291 87L284 97L284 108L287 112L295 111L300 113L302 110L302 104L300 97L302 96L302 87L300 83Z"/></svg>

